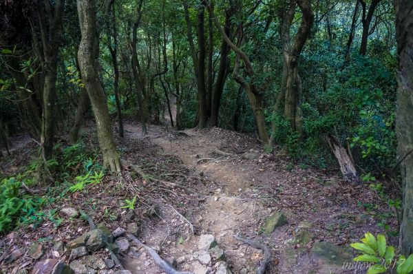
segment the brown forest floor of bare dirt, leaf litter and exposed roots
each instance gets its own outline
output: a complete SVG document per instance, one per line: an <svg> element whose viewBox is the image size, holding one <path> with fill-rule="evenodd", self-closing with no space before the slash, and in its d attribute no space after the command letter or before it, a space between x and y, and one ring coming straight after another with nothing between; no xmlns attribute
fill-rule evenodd
<svg viewBox="0 0 413 274"><path fill-rule="evenodd" d="M88 127L85 136L91 147L97 147L92 129L93 125ZM354 257L349 244L367 231L383 233L382 222L390 229L396 226L386 202L368 185L341 180L335 168L315 169L277 156L277 151L266 154L254 136L219 128L173 131L157 125L149 125L148 135L142 136L140 124L129 120L125 137L116 142L123 159L142 173L127 170L122 177L106 176L87 191L67 193L47 207L84 209L110 231L138 223L138 238L180 271L222 273L222 266L229 266L232 273L255 273L264 253L234 238L241 235L271 250L266 273L364 273L343 269ZM25 151L34 146L20 144L15 151L21 159L6 163L3 171L15 172L13 167L27 160ZM134 211L122 209L123 201L134 196ZM286 224L266 231L266 220L276 213L285 215ZM59 257L70 263L67 252L56 254L52 246L88 230L80 218L57 227L52 222L36 229L19 227L2 238L0 260L12 249L41 242L45 250L41 258ZM202 245L211 240L209 235L224 256L214 253L218 249L207 252L212 259L205 254L209 246ZM108 257L107 251L96 254ZM121 255L131 273L163 273L144 249L128 244ZM17 273L35 262L25 252L1 267Z"/></svg>

